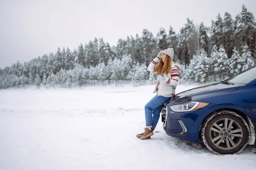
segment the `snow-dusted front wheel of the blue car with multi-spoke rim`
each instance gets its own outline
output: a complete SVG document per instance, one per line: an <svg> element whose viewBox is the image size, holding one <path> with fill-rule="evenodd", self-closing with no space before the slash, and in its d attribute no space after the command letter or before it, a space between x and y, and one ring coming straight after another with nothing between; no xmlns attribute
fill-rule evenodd
<svg viewBox="0 0 256 170"><path fill-rule="evenodd" d="M250 139L247 122L233 111L213 112L201 129L204 145L216 154L236 154L244 150Z"/></svg>

